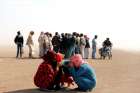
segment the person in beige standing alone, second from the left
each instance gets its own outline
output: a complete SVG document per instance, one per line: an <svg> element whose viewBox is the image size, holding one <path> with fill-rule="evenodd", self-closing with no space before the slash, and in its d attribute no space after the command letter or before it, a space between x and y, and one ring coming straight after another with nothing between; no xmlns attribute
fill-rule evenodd
<svg viewBox="0 0 140 93"><path fill-rule="evenodd" d="M33 42L33 35L34 35L34 31L31 31L28 39L27 39L27 43L26 45L28 45L29 47L29 58L33 58L33 46L34 46L34 42Z"/></svg>

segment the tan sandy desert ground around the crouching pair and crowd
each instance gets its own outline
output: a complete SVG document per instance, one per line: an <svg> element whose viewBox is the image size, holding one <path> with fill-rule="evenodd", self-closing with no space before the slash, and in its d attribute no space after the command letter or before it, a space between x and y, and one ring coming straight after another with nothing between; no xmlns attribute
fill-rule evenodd
<svg viewBox="0 0 140 93"><path fill-rule="evenodd" d="M15 59L14 49L6 51L1 49L0 53L0 93L49 93L39 91L33 83L33 76L42 60ZM92 93L140 93L139 53L115 50L111 61L89 59L88 62L97 74L97 87ZM66 92L80 93L59 91Z"/></svg>

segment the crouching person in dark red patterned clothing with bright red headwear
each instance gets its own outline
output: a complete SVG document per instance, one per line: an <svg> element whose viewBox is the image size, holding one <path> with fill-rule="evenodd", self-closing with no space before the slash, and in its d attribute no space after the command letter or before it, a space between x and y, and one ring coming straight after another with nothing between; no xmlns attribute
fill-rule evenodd
<svg viewBox="0 0 140 93"><path fill-rule="evenodd" d="M41 90L60 89L62 72L59 70L59 64L62 61L62 55L49 50L43 56L43 60L34 76L34 84Z"/></svg>

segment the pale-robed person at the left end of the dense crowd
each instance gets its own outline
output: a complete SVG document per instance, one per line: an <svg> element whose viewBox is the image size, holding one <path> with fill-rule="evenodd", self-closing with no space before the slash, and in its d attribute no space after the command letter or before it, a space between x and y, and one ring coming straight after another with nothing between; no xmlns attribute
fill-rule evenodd
<svg viewBox="0 0 140 93"><path fill-rule="evenodd" d="M44 45L44 32L40 33L40 36L38 38L38 43L39 43L39 57L42 57L45 54L44 53L45 49L43 47L43 45Z"/></svg>

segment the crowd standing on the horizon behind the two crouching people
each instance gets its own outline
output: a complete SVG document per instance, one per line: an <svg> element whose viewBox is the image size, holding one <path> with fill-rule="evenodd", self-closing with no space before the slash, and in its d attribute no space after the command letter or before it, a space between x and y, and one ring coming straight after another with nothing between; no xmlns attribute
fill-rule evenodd
<svg viewBox="0 0 140 93"><path fill-rule="evenodd" d="M34 31L29 33L27 38L26 45L29 47L29 58L33 58L33 47L34 47L34 39L33 39ZM97 38L95 37L92 40L92 47L90 46L89 37L84 34L79 34L77 32L71 33L61 33L61 35L56 32L53 36L49 32L41 32L38 38L39 43L39 57L41 58L44 54L47 53L48 50L54 50L56 53L62 53L64 58L70 58L74 54L81 54L82 58L88 59L90 54L90 48L92 48L92 58L96 59L96 49L97 49ZM21 35L21 32L17 32L17 36L15 38L15 43L17 45L17 58L22 57L23 54L23 44L24 38ZM112 43L109 38L103 42L103 47L112 47Z"/></svg>

